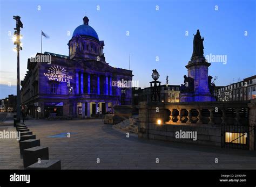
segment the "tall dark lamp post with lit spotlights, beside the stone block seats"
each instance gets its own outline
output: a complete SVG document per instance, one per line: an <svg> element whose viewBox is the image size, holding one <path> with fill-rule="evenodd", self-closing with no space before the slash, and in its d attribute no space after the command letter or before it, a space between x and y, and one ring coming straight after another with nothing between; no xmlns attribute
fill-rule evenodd
<svg viewBox="0 0 256 187"><path fill-rule="evenodd" d="M20 86L19 86L19 49L22 50L21 47L21 38L22 35L20 34L21 28L23 28L23 24L21 22L21 17L14 16L14 19L16 20L16 28L14 28L14 45L16 45L16 51L17 51L17 120L21 120L21 93L20 93Z"/></svg>

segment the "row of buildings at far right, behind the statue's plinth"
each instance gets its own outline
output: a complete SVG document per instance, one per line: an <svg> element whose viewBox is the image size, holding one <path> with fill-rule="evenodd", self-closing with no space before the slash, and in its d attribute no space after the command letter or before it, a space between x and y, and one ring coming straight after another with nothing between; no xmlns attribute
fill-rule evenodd
<svg viewBox="0 0 256 187"><path fill-rule="evenodd" d="M218 101L250 100L256 98L256 75L217 90Z"/></svg>

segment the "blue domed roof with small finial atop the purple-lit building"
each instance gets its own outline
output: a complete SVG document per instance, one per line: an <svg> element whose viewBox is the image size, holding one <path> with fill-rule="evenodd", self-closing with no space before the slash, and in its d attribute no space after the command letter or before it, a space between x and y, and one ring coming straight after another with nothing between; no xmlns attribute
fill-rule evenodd
<svg viewBox="0 0 256 187"><path fill-rule="evenodd" d="M76 27L72 37L76 37L77 35L86 35L99 40L97 32L90 25L88 25L89 19L87 17L84 17L83 20L84 24Z"/></svg>

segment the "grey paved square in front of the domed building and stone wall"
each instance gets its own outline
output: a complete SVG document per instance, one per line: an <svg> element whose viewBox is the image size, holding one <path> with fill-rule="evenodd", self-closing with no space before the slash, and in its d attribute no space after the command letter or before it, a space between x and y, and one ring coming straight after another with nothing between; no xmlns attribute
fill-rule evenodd
<svg viewBox="0 0 256 187"><path fill-rule="evenodd" d="M49 147L62 169L255 169L256 152L126 138L100 119L28 120L28 128ZM13 126L0 130L14 131ZM66 133L71 133L70 138ZM16 140L0 140L0 169L23 169ZM97 163L97 159L100 163ZM156 158L159 163L156 163ZM215 163L218 158L218 163Z"/></svg>

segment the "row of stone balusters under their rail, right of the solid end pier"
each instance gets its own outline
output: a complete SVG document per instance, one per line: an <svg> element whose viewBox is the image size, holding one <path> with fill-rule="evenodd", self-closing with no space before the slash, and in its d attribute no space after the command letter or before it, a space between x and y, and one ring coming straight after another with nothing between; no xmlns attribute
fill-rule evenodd
<svg viewBox="0 0 256 187"><path fill-rule="evenodd" d="M165 103L169 123L187 124L248 124L250 101Z"/></svg>

